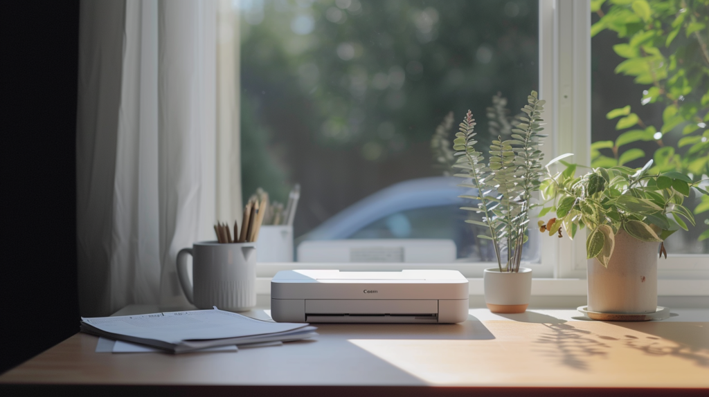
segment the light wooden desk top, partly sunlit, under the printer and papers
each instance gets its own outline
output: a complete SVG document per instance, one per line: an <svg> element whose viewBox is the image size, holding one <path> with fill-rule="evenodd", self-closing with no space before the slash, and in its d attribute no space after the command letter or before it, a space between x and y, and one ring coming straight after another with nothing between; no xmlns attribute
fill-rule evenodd
<svg viewBox="0 0 709 397"><path fill-rule="evenodd" d="M157 311L140 309L117 314ZM600 391L576 388L709 395L709 310L673 313L665 321L610 323L584 321L574 310L498 316L471 309L458 325L320 324L316 340L184 355L96 353L98 338L77 333L1 375L0 386L72 395L528 395L529 387L545 396L569 388L593 396Z"/></svg>

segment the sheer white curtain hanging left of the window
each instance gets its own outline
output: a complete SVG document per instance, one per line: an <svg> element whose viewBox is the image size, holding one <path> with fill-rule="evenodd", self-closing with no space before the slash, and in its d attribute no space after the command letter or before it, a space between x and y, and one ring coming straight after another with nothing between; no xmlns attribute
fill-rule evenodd
<svg viewBox="0 0 709 397"><path fill-rule="evenodd" d="M82 1L82 316L128 304L186 305L177 252L213 239L216 219L233 221L241 205L238 71L217 88L223 64L238 64L235 40L228 52L218 35L232 18L228 1Z"/></svg>

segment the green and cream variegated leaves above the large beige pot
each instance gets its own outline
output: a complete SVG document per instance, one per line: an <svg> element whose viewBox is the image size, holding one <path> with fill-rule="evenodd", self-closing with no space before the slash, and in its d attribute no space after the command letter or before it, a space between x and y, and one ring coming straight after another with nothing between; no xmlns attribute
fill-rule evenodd
<svg viewBox="0 0 709 397"><path fill-rule="evenodd" d="M547 170L564 156L550 161ZM566 166L564 171L549 173L542 182L542 199L552 205L542 209L540 217L550 211L557 217L540 221L540 231L553 235L563 228L574 238L587 227L586 256L605 267L613 255L615 234L621 229L638 240L661 243L660 255L664 253L666 258L664 240L680 228L687 230L686 222L694 224L692 212L682 205L690 189L702 193L702 200L709 198L709 192L700 187L705 181L692 182L674 171L650 174L652 160L637 170L625 166L592 168L582 176L575 175L576 164L561 163Z"/></svg>

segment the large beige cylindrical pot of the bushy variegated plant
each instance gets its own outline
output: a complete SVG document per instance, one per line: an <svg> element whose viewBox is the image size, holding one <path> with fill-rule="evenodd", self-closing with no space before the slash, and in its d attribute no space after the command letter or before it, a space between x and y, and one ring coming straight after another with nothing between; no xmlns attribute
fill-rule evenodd
<svg viewBox="0 0 709 397"><path fill-rule="evenodd" d="M596 258L588 260L588 311L654 313L658 246L618 231L608 268Z"/></svg>

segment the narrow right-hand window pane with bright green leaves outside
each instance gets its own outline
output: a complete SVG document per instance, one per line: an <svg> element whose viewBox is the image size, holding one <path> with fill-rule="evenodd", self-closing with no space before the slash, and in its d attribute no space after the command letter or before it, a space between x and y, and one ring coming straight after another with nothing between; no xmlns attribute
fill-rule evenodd
<svg viewBox="0 0 709 397"><path fill-rule="evenodd" d="M593 166L709 174L709 6L706 1L591 1ZM703 183L706 189L707 184ZM709 253L709 197L683 205L695 225L665 242L669 253Z"/></svg>

